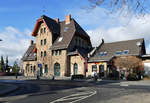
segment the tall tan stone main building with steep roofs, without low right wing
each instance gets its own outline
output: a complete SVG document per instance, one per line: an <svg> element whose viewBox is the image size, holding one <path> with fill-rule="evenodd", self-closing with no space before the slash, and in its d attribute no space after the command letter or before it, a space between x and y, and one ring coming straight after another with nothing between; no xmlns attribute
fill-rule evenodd
<svg viewBox="0 0 150 103"><path fill-rule="evenodd" d="M25 76L70 76L84 74L85 57L92 49L90 37L67 15L65 21L41 16L35 24L31 44L24 54ZM82 58L82 59L81 59Z"/></svg>

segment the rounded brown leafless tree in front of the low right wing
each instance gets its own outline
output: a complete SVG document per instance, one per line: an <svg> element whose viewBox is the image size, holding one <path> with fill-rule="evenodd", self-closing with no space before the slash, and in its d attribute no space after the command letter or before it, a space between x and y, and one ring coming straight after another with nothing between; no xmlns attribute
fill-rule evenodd
<svg viewBox="0 0 150 103"><path fill-rule="evenodd" d="M130 72L139 72L143 69L142 60L136 56L120 56L114 59L114 65L120 68L126 68Z"/></svg>

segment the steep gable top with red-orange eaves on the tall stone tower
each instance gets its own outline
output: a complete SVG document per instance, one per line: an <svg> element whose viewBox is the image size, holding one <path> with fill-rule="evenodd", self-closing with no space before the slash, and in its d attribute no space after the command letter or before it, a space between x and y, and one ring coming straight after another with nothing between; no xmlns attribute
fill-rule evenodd
<svg viewBox="0 0 150 103"><path fill-rule="evenodd" d="M45 15L41 16L36 21L32 36L41 36L42 38L42 34L48 35L48 37L51 39L50 44L52 45L57 37L60 35L59 19L54 20Z"/></svg>

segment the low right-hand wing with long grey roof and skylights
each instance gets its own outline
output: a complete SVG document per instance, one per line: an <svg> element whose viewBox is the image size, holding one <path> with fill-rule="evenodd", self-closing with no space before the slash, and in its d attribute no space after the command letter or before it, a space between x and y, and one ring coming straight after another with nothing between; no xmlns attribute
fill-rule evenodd
<svg viewBox="0 0 150 103"><path fill-rule="evenodd" d="M111 60L117 56L137 56L146 54L144 38L111 43L102 43L88 60L88 75L96 71L102 77L112 72Z"/></svg>

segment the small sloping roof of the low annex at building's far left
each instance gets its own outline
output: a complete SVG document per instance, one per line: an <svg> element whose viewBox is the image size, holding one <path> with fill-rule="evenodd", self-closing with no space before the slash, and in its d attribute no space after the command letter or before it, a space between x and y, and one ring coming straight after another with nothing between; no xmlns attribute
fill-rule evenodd
<svg viewBox="0 0 150 103"><path fill-rule="evenodd" d="M32 44L29 46L29 48L27 49L26 53L24 54L22 60L23 61L35 61L36 60L36 55L34 55L34 48L35 48L35 44Z"/></svg>

